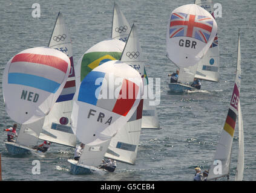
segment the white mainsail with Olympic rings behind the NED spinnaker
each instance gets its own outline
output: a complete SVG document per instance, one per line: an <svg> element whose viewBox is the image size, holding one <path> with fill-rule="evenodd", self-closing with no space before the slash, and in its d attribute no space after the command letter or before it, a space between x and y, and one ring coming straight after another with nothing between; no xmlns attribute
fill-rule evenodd
<svg viewBox="0 0 256 193"><path fill-rule="evenodd" d="M74 93L76 92L73 51L68 28L65 25L64 17L60 12L57 16L48 46L68 55L71 63L71 69L67 83L65 84L61 95L54 104L53 109L51 109L51 112L45 116L43 130L39 139L70 147L76 147L76 136L73 134L70 126L72 100Z"/></svg>

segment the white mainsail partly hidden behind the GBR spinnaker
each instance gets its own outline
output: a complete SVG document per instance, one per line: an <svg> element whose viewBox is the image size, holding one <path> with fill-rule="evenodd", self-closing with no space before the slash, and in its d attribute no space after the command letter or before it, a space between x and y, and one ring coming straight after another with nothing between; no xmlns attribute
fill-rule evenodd
<svg viewBox="0 0 256 193"><path fill-rule="evenodd" d="M213 17L214 10L212 7L212 1L201 1L195 0L195 4L202 8L205 8ZM208 52L203 56L203 58L197 64L197 70L195 72L195 78L200 80L219 82L219 65L220 65L220 51L218 49L218 36L214 37L214 42L210 46Z"/></svg>

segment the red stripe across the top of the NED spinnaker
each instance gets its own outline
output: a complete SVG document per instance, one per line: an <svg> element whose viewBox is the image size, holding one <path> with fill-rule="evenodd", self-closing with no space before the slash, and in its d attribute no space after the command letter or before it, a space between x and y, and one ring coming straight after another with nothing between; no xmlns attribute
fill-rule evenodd
<svg viewBox="0 0 256 193"><path fill-rule="evenodd" d="M65 60L62 60L59 57L56 57L53 55L22 53L22 54L15 55L15 57L13 57L13 60L11 60L11 62L38 63L41 65L47 65L53 68L57 68L64 73L66 73L68 69L68 63Z"/></svg>

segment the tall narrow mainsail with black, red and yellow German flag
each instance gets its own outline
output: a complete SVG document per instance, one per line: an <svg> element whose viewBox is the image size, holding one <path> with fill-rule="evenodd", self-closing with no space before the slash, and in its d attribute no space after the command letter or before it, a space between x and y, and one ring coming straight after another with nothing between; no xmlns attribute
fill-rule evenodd
<svg viewBox="0 0 256 193"><path fill-rule="evenodd" d="M228 110L228 116L222 131L222 136L217 145L214 155L214 163L209 170L208 180L229 175L229 165L231 162L231 148L235 131L235 122L238 115L238 104L241 86L241 59L240 59L240 36L238 35L237 51L237 74L232 93L231 103ZM218 164L218 165L217 165Z"/></svg>

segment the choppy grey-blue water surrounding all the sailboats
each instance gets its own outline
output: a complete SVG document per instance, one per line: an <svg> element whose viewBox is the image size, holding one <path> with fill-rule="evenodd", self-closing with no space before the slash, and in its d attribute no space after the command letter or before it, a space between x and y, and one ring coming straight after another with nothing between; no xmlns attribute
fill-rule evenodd
<svg viewBox="0 0 256 193"><path fill-rule="evenodd" d="M31 16L35 1L1 1L0 81L5 64L18 52L47 46L59 10L73 41L74 63L88 48L111 34L114 1L40 1L41 17ZM217 18L220 46L220 83L202 82L202 90L183 95L168 92L167 74L176 68L165 53L169 14L182 1L116 1L130 24L137 24L149 77L161 78L161 103L157 106L162 130L142 130L136 165L117 163L113 174L74 176L67 159L73 149L53 145L45 158L10 156L5 150L6 133L13 124L4 110L1 84L0 153L3 180L192 180L194 167L208 169L228 113L234 86L238 28L241 32L241 109L245 128L244 180L256 180L255 161L255 30L256 1L219 1ZM216 1L217 2L217 1ZM214 1L215 3L215 1ZM232 150L231 180L237 163L237 132ZM41 174L31 174L32 161L41 162Z"/></svg>

